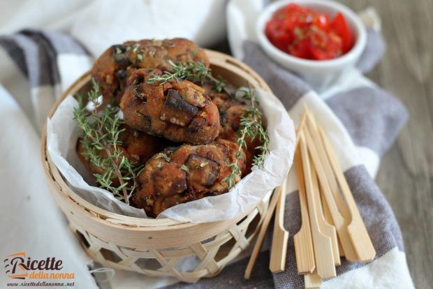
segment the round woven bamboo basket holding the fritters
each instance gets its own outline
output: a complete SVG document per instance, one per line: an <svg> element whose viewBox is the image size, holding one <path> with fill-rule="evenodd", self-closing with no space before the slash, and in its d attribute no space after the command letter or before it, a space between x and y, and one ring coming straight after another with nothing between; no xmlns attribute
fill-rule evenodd
<svg viewBox="0 0 433 289"><path fill-rule="evenodd" d="M235 87L251 85L270 91L263 79L240 61L209 50L207 55L214 75L221 75ZM86 73L72 84L49 117L66 96L88 89L90 77ZM46 131L41 145L43 168L54 200L89 256L105 267L148 276L174 276L186 282L214 276L251 244L267 212L270 193L247 212L228 221L194 224L114 214L91 205L68 187L47 153ZM196 258L195 267L179 266L186 258Z"/></svg>

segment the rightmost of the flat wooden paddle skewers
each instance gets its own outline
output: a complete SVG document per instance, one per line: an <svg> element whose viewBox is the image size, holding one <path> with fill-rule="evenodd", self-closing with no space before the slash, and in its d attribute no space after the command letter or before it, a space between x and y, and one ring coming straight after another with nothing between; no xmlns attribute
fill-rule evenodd
<svg viewBox="0 0 433 289"><path fill-rule="evenodd" d="M339 186L342 188L342 192L344 198L346 199L348 209L351 212L352 220L351 223L348 225L348 233L351 237L353 246L355 247L355 251L358 254L361 262L372 261L376 256L376 250L374 249L372 240L368 235L367 228L365 228L365 224L362 221L362 217L360 215L360 212L358 211L358 207L356 206L355 200L353 199L351 189L347 184L346 177L344 177L343 175L343 171L339 166L334 151L332 151L329 140L328 138L326 138L326 135L323 132L322 128L320 126L318 128L321 138L323 140L325 151L328 153L332 169L337 176L337 181L339 183Z"/></svg>

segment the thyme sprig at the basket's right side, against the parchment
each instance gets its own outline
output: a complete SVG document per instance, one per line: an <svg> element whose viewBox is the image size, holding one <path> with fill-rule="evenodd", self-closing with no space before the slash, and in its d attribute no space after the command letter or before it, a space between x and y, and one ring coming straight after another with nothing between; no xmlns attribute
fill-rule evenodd
<svg viewBox="0 0 433 289"><path fill-rule="evenodd" d="M262 123L262 112L258 110L256 105L259 104L258 98L254 94L252 89L239 89L237 94L240 94L240 97L251 101L251 107L244 108L244 114L240 117L240 129L237 131L237 151L235 151L235 162L230 163L229 166L231 168L231 173L224 179L226 181L228 189L232 188L237 179L240 179L242 171L240 170L237 161L242 158L242 149L248 149L247 147L247 138L250 141L254 141L256 138L260 141L260 146L255 147L255 149L260 150L260 154L254 156L253 165L256 165L258 168L263 167L265 163L265 155L269 152L269 135L265 128L263 128Z"/></svg>

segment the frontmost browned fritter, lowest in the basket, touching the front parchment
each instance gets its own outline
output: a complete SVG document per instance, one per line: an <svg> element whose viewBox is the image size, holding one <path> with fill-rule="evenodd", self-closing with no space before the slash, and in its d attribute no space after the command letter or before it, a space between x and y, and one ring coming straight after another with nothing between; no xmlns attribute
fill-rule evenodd
<svg viewBox="0 0 433 289"><path fill-rule="evenodd" d="M141 188L134 193L132 205L158 216L179 203L226 193L224 179L232 172L229 164L237 163L242 172L245 169L244 155L235 157L237 149L234 142L218 140L196 146L184 144L156 154L138 176Z"/></svg>

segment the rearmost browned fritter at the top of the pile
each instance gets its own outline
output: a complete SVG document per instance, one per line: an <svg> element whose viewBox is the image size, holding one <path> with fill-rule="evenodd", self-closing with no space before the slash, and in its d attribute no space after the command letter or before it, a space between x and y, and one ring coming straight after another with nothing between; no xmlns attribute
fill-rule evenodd
<svg viewBox="0 0 433 289"><path fill-rule="evenodd" d="M120 102L125 82L135 69L158 68L172 71L168 61L186 64L188 61L203 62L209 67L205 51L184 38L166 40L127 41L112 45L99 57L91 75L99 84L106 101Z"/></svg>

